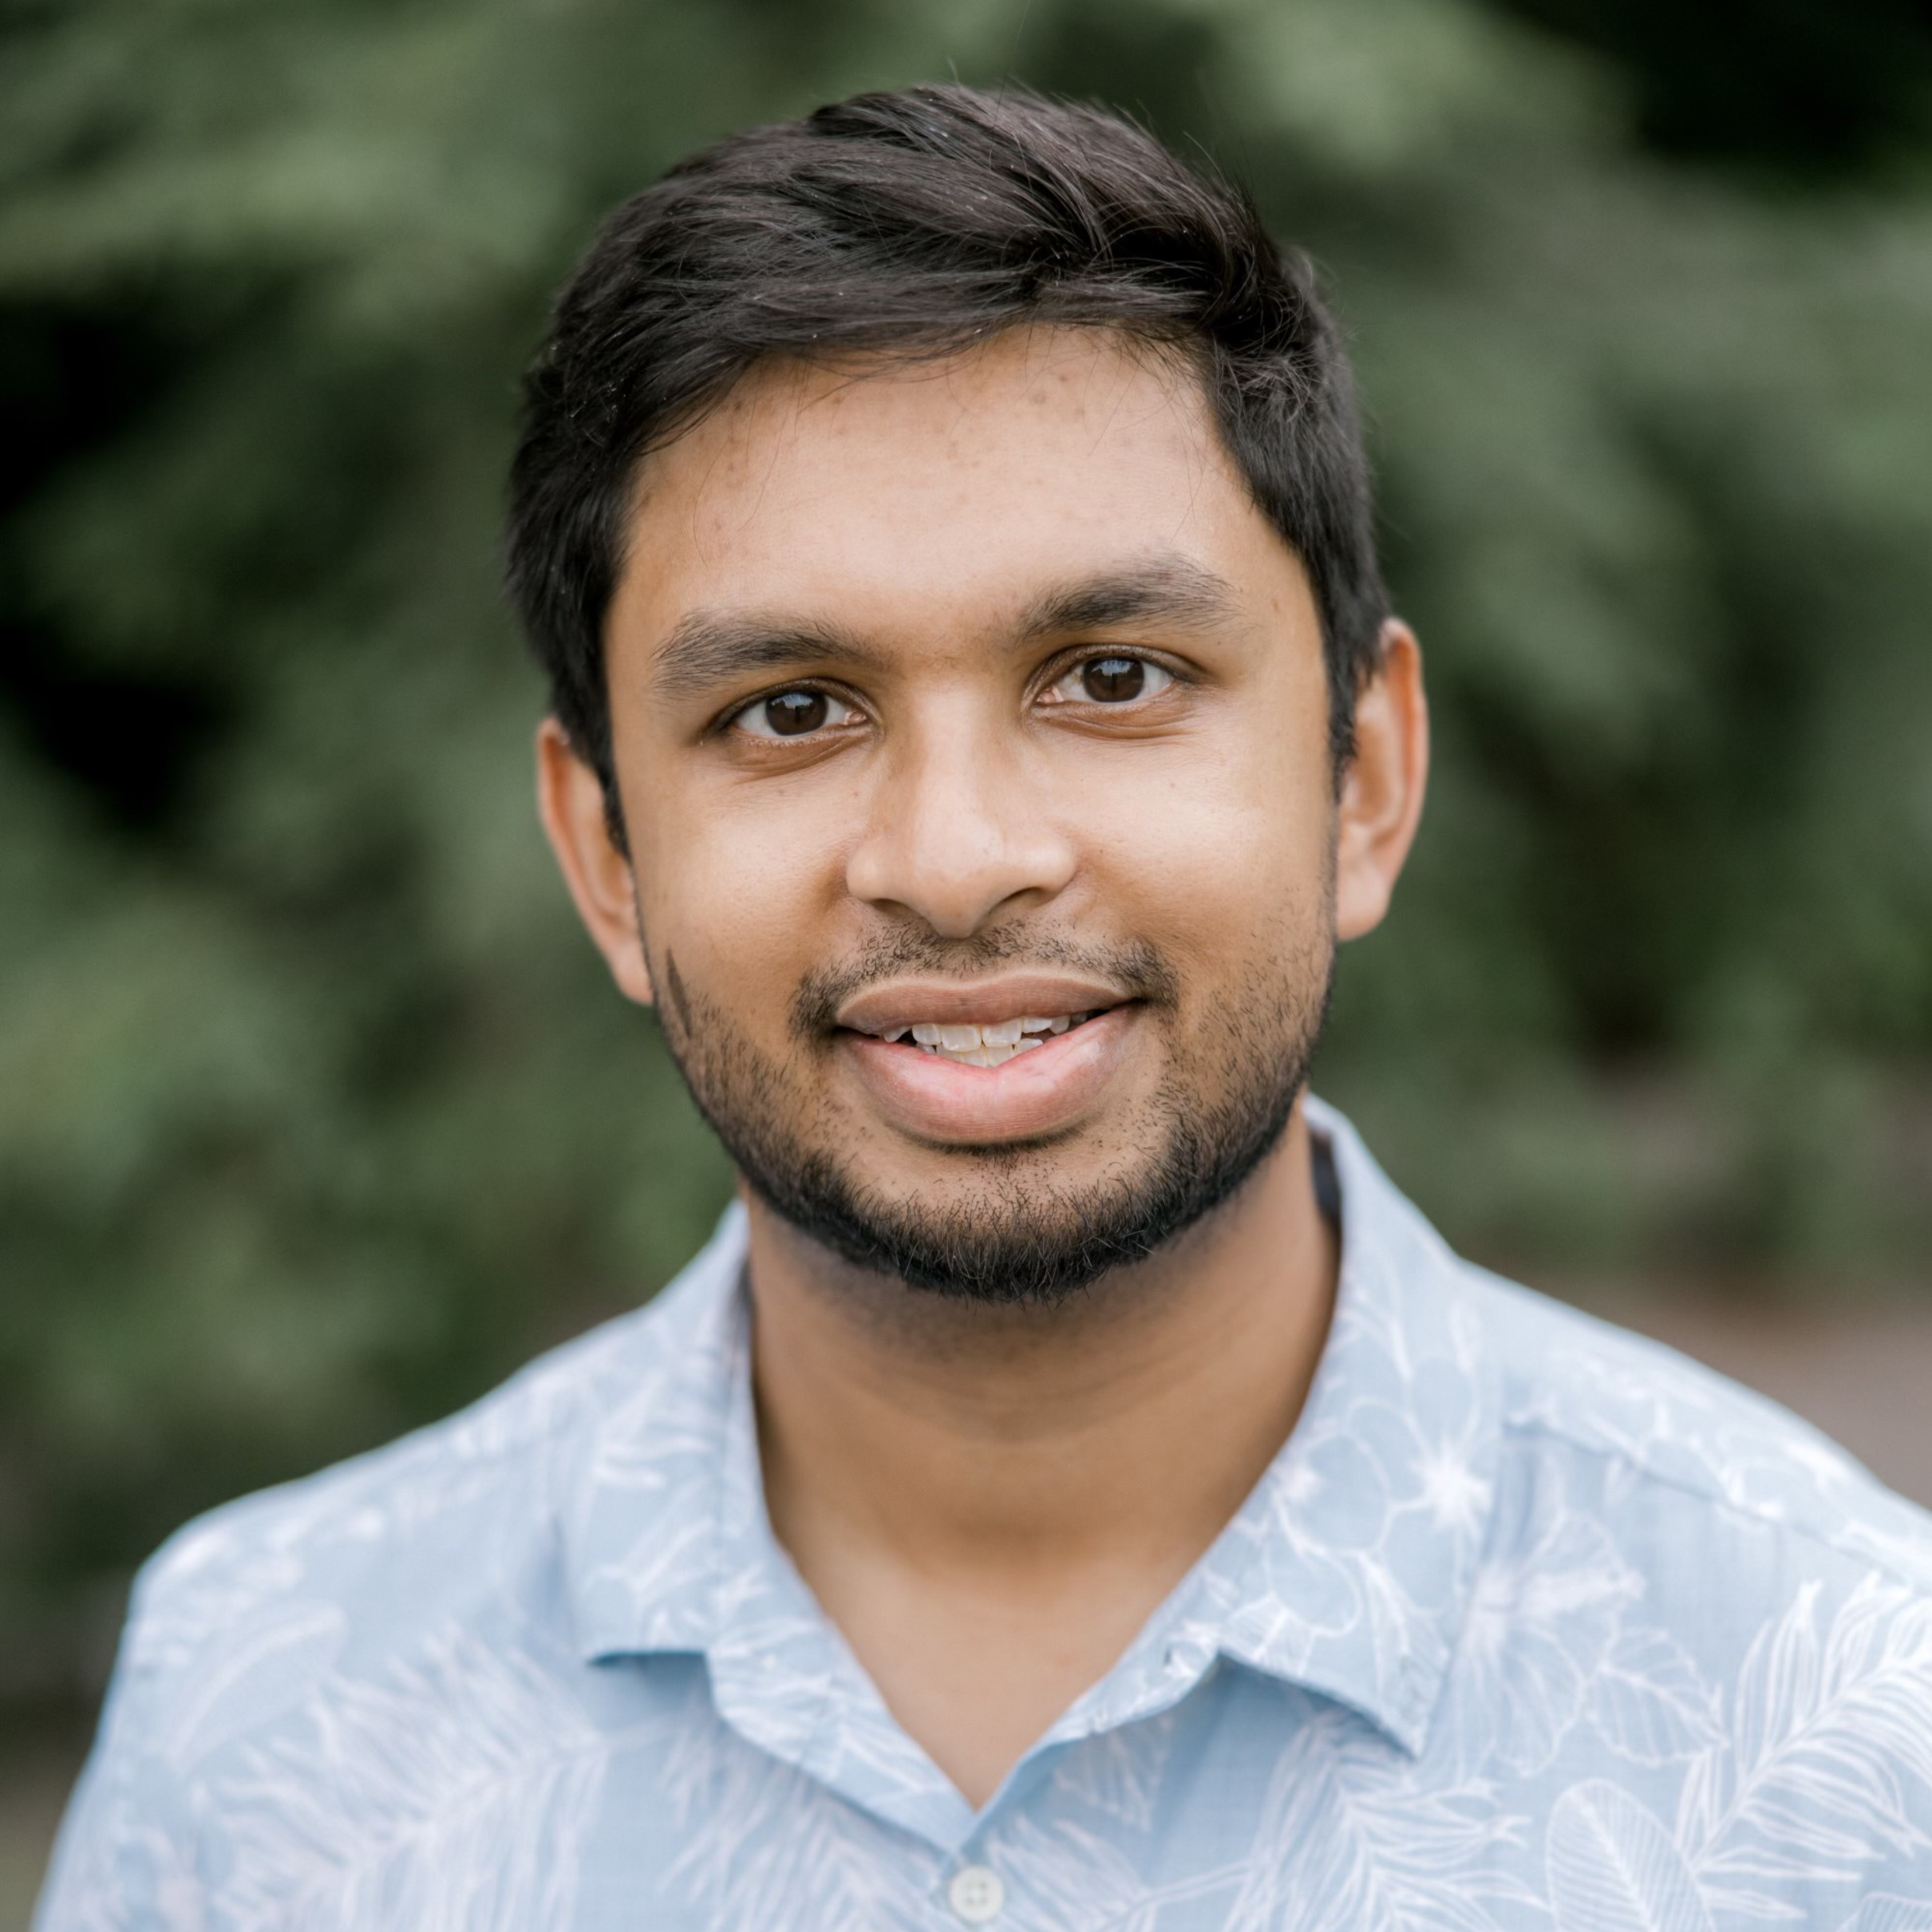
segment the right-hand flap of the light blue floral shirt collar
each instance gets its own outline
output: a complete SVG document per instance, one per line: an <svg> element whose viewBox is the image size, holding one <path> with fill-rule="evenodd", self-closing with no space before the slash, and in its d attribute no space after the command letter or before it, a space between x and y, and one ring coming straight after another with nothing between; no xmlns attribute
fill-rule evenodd
<svg viewBox="0 0 1932 1932"><path fill-rule="evenodd" d="M1072 1735L1151 1714L1227 1658L1349 1704L1408 1752L1426 1743L1488 1536L1501 1378L1463 1264L1339 1113L1306 1111L1343 1211L1308 1401L1235 1520L1066 1714Z"/></svg>

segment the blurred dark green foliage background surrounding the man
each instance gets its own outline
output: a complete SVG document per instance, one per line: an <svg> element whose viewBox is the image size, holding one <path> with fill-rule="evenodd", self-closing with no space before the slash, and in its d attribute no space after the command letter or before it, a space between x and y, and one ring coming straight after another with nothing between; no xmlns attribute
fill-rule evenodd
<svg viewBox="0 0 1932 1932"><path fill-rule="evenodd" d="M1321 1092L1932 1499L1917 0L8 0L0 1922L168 1530L724 1200L531 819L516 379L680 153L947 75L1128 106L1337 292L1437 777Z"/></svg>

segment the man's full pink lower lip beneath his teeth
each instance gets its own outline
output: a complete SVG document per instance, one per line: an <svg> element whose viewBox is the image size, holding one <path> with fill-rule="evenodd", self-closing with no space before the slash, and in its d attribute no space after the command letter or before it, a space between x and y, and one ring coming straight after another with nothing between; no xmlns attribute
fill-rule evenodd
<svg viewBox="0 0 1932 1932"><path fill-rule="evenodd" d="M914 1140L1037 1140L1065 1132L1094 1107L1126 1053L1138 1010L1109 1007L1001 1066L962 1066L871 1034L840 1034L838 1043L879 1113Z"/></svg>

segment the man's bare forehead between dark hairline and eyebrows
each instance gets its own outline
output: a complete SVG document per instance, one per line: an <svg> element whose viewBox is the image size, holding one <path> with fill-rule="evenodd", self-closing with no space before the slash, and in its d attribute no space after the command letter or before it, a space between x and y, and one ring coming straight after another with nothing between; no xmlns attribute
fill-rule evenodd
<svg viewBox="0 0 1932 1932"><path fill-rule="evenodd" d="M1014 328L920 363L767 363L641 466L611 647L694 609L945 634L1151 553L1256 605L1306 595L1177 357Z"/></svg>

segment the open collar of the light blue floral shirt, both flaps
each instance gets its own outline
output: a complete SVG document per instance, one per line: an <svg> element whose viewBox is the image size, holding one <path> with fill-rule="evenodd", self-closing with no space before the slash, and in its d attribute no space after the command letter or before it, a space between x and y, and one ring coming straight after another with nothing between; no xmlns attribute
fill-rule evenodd
<svg viewBox="0 0 1932 1932"><path fill-rule="evenodd" d="M1306 1105L1343 1208L1335 1318L1308 1403L1235 1520L1051 1739L1151 1716L1227 1658L1422 1748L1490 1520L1497 1378L1461 1264L1354 1128ZM777 1652L782 1681L831 1689L850 1658L765 1520L744 1252L734 1206L599 1360L558 1497L566 1590L585 1658L703 1652L717 1681L721 1665L738 1677L730 1660L779 1669ZM796 1760L810 1739L788 1745Z"/></svg>

